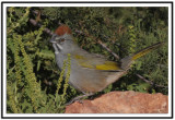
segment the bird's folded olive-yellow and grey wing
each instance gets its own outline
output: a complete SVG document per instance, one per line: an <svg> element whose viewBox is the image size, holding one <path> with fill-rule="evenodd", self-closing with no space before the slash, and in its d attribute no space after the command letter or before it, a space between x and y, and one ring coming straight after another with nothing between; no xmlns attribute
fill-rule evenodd
<svg viewBox="0 0 175 120"><path fill-rule="evenodd" d="M73 55L78 63L88 69L104 70L104 71L119 71L121 70L117 62L107 61L104 58L92 55Z"/></svg>

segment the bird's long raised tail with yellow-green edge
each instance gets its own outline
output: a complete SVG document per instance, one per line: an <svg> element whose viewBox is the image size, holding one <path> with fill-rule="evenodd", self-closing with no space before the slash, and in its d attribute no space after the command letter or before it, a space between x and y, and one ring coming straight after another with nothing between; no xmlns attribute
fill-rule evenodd
<svg viewBox="0 0 175 120"><path fill-rule="evenodd" d="M121 59L121 69L128 70L129 67L131 65L131 63L132 63L135 60L137 60L138 58L140 58L140 57L149 53L149 52L152 51L152 50L158 49L158 48L161 47L164 43L165 43L165 41L156 43L156 44L154 44L154 45L152 45L152 46L149 46L149 47L147 47L147 48L144 48L144 49L141 49L141 50L135 52L135 53L131 55L131 56L127 56L127 57L122 58L122 59Z"/></svg>

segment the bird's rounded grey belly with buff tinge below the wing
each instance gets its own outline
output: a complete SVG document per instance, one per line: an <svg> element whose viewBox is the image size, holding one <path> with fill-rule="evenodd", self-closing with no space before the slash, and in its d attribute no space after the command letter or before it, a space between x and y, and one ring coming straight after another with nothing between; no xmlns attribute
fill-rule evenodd
<svg viewBox="0 0 175 120"><path fill-rule="evenodd" d="M73 87L83 93L96 93L107 86L107 73L79 68L79 70L71 70L69 82Z"/></svg>

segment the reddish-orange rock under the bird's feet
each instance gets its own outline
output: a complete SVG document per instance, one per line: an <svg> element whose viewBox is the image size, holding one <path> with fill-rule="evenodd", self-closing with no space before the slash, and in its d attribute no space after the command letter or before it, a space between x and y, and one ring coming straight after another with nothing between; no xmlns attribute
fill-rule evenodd
<svg viewBox="0 0 175 120"><path fill-rule="evenodd" d="M66 113L167 113L168 97L163 94L110 92L93 100L75 101Z"/></svg>

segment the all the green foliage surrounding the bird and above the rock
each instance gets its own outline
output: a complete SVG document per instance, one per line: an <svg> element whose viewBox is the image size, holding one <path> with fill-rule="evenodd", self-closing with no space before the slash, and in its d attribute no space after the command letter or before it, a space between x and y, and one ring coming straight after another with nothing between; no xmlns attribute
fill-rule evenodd
<svg viewBox="0 0 175 120"><path fill-rule="evenodd" d="M30 17L37 17L31 10L42 12L42 27L28 22ZM116 58L97 44L98 39L120 58L158 41L167 41L167 8L8 8L7 14L9 113L61 113L65 104L80 95L68 85L71 56L68 55L62 71L59 71L48 41L50 36L43 32L45 27L55 31L59 23L65 23L81 48L114 61ZM136 75L167 86L167 55L165 44L138 59L128 74L101 94L136 91L167 95L166 87L152 86Z"/></svg>

